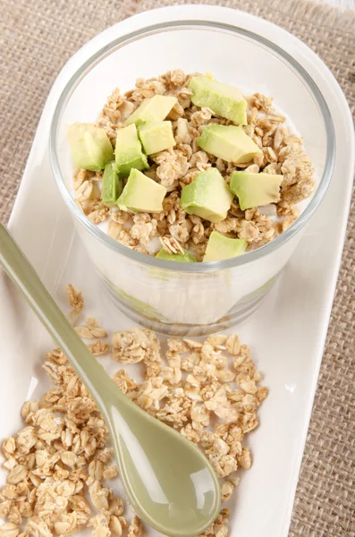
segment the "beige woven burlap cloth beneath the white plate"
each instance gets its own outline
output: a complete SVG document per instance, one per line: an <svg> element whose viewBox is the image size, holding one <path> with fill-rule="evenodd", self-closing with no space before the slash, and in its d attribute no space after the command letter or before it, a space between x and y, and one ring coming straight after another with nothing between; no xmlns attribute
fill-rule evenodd
<svg viewBox="0 0 355 537"><path fill-rule="evenodd" d="M46 96L89 38L168 0L0 2L0 219L6 223ZM191 4L193 2L189 2ZM355 112L355 15L307 0L208 1L273 21L313 48ZM355 197L290 536L355 537ZM257 515L257 513L256 513ZM248 537L242 535L240 537Z"/></svg>

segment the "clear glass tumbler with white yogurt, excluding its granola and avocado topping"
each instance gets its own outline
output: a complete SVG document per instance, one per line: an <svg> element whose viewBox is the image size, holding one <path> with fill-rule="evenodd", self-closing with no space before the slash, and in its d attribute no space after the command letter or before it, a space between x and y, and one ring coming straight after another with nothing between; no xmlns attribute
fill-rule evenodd
<svg viewBox="0 0 355 537"><path fill-rule="evenodd" d="M317 191L296 222L271 243L240 257L178 263L140 254L92 224L72 196L74 168L66 127L95 122L115 87L169 70L211 71L217 80L275 98L300 132L316 169ZM55 109L50 156L56 183L89 257L110 296L131 319L173 335L204 335L232 326L258 308L314 214L334 166L334 126L309 74L257 34L217 22L168 22L117 38L93 55L66 85Z"/></svg>

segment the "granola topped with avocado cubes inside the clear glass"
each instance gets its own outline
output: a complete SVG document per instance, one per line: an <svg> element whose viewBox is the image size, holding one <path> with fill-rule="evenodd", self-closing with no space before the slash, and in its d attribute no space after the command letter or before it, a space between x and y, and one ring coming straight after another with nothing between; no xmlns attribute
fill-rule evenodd
<svg viewBox="0 0 355 537"><path fill-rule="evenodd" d="M68 128L77 204L114 240L163 259L269 243L315 187L302 139L272 101L180 69L115 89L96 125Z"/></svg>

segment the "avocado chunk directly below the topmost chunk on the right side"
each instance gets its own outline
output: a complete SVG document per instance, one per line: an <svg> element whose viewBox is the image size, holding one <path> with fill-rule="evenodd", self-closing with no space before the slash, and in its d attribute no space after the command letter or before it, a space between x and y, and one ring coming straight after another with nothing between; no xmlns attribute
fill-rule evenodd
<svg viewBox="0 0 355 537"><path fill-rule="evenodd" d="M249 162L262 154L248 134L235 125L207 125L197 142L207 153L234 164Z"/></svg>

